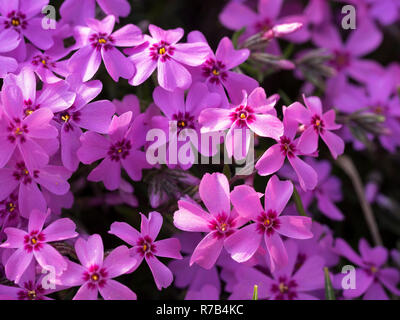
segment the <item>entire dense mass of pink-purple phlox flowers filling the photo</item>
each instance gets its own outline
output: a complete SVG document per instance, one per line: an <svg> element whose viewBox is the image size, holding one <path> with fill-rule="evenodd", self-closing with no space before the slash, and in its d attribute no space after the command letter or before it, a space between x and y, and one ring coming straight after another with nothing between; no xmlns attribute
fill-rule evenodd
<svg viewBox="0 0 400 320"><path fill-rule="evenodd" d="M343 299L400 295L398 251L389 263L388 249L362 238L358 254L330 227L352 214L338 205L332 174L345 143L360 152L375 141L389 153L400 146L400 64L364 58L400 17L398 1L384 1L390 16L380 2L352 1L358 27L343 42L328 1L232 0L219 18L236 39L222 38L214 52L200 31L185 41L182 28L116 27L135 14L126 0L65 0L55 29L42 23L49 0L1 1L1 299L59 298L70 288L73 299L136 299L114 278L135 277L143 260L158 290L174 285L186 299L220 299L222 288L251 299L255 285L260 299L323 299L324 267ZM286 42L313 49L289 61ZM324 50L317 62L315 48ZM96 79L102 62L107 79L131 92L151 88L152 101L139 90L112 100ZM297 101L254 76L281 69L303 81ZM323 91L310 80L318 70L331 72L319 79ZM360 124L371 130L352 134ZM166 139L150 143L151 130ZM254 144L252 173L232 177ZM173 145L186 148L184 160ZM197 154L211 158L222 146L230 164L197 170ZM149 161L166 149L163 163ZM149 213L131 210L140 205ZM108 217L108 234L91 234L81 218L96 206L129 214ZM105 250L105 236L127 245ZM354 289L342 286L340 257L356 265Z"/></svg>

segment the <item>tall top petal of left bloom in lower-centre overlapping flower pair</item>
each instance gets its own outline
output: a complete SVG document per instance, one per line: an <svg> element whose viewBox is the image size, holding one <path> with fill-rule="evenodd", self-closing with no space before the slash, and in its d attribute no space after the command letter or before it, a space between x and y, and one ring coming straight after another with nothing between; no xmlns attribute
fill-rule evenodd
<svg viewBox="0 0 400 320"><path fill-rule="evenodd" d="M201 179L199 193L210 213L230 213L229 183L224 174L206 173Z"/></svg>

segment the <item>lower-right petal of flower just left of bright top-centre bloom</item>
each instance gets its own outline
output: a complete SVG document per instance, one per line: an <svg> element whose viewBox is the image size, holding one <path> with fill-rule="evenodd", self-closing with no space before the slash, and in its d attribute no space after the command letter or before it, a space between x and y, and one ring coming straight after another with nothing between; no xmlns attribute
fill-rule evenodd
<svg viewBox="0 0 400 320"><path fill-rule="evenodd" d="M115 82L118 82L120 77L130 79L133 76L134 65L115 47L102 49L101 55L108 73Z"/></svg>

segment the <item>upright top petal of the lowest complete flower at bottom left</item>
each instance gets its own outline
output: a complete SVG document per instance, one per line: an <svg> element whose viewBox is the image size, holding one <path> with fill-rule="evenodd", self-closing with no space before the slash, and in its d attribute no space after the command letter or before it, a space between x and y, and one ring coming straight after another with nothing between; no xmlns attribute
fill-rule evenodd
<svg viewBox="0 0 400 320"><path fill-rule="evenodd" d="M86 268L89 268L94 264L98 266L103 264L103 241L98 234L90 236L87 240L84 240L83 238L76 240L75 251L79 261Z"/></svg>

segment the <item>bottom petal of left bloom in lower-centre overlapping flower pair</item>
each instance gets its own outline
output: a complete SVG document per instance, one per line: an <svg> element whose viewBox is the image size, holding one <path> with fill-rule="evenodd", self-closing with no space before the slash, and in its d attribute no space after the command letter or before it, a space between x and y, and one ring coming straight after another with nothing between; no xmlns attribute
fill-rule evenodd
<svg viewBox="0 0 400 320"><path fill-rule="evenodd" d="M207 234L199 242L190 258L190 265L197 263L204 269L211 269L221 254L224 239L218 239L215 232Z"/></svg>

